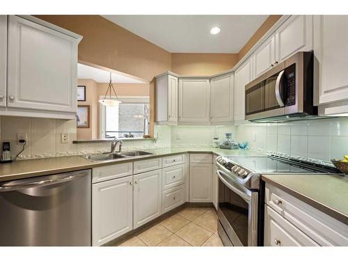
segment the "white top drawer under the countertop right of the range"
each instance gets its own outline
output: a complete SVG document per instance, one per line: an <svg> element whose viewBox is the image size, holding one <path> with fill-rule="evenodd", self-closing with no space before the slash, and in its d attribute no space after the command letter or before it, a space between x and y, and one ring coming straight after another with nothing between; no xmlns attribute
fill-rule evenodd
<svg viewBox="0 0 348 261"><path fill-rule="evenodd" d="M321 246L348 246L348 226L271 184L265 203Z"/></svg>

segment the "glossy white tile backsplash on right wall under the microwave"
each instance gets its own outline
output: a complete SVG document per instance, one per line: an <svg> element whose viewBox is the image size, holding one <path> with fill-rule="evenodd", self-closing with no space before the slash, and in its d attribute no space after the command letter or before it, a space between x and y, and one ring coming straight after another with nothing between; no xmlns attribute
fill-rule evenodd
<svg viewBox="0 0 348 261"><path fill-rule="evenodd" d="M237 140L252 148L329 161L348 154L348 118L248 124L236 127Z"/></svg>

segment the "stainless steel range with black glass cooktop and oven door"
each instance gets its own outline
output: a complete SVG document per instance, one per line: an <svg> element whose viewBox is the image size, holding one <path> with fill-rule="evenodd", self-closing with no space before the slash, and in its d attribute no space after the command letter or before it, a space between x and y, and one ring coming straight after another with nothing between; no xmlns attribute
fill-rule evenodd
<svg viewBox="0 0 348 261"><path fill-rule="evenodd" d="M274 154L217 157L219 235L225 246L263 245L262 174L342 174L331 164Z"/></svg>

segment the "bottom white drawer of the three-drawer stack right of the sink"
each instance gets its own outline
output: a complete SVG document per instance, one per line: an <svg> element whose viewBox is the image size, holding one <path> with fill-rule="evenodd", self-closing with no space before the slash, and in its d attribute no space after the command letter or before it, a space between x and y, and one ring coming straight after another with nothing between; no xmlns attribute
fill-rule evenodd
<svg viewBox="0 0 348 261"><path fill-rule="evenodd" d="M185 203L184 185L162 192L162 214Z"/></svg>

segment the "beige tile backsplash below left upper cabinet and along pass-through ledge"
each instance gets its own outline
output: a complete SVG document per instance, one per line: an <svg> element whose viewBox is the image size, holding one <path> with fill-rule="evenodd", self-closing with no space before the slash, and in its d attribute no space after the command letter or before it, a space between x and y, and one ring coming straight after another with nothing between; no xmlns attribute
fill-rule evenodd
<svg viewBox="0 0 348 261"><path fill-rule="evenodd" d="M17 134L27 134L27 143L19 159L81 155L110 151L111 143L79 143L76 120L56 120L47 118L0 117L0 140L10 141L11 155L22 150L17 145ZM68 134L69 142L61 143L61 134ZM124 141L124 150L154 148L155 143L148 141Z"/></svg>

